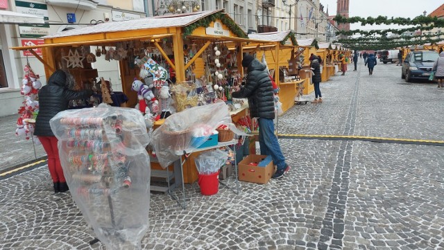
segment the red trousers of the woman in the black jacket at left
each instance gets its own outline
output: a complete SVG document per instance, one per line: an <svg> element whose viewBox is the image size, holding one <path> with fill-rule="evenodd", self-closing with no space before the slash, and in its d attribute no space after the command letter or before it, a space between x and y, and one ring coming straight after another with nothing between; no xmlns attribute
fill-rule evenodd
<svg viewBox="0 0 444 250"><path fill-rule="evenodd" d="M66 182L63 175L62 165L58 157L57 137L56 136L38 136L44 151L48 155L48 168L53 182Z"/></svg>

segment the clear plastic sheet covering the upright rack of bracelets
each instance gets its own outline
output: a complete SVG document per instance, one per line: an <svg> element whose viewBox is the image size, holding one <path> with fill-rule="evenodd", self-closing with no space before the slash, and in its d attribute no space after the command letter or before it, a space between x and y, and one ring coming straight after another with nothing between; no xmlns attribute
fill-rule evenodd
<svg viewBox="0 0 444 250"><path fill-rule="evenodd" d="M137 109L99 105L50 121L71 195L107 249L140 249L148 230L150 138Z"/></svg>

